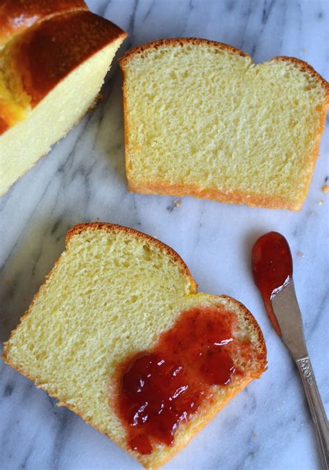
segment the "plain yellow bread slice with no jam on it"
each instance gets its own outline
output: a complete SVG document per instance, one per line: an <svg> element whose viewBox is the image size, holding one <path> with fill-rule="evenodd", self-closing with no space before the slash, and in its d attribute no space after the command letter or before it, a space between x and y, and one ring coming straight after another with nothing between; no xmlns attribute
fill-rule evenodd
<svg viewBox="0 0 329 470"><path fill-rule="evenodd" d="M300 210L329 105L306 62L178 38L120 61L129 189Z"/></svg>

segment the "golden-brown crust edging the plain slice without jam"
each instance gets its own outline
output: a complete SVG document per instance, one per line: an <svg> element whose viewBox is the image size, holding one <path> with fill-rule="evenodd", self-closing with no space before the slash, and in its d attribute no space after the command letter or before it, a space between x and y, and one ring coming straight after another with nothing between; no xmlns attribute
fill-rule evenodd
<svg viewBox="0 0 329 470"><path fill-rule="evenodd" d="M321 135L323 133L323 129L326 123L326 114L329 107L329 83L320 75L318 74L311 65L307 64L303 60L299 60L293 57L288 56L277 56L269 60L269 62L290 62L295 67L298 67L302 70L305 74L312 76L312 78L316 79L323 87L323 90L326 92L326 106L323 108L323 113L321 115L319 121L319 128L314 133L314 140L317 144L314 146L314 152L312 154L312 159L310 162L310 170L308 173L308 185L305 188L303 197L299 201L291 201L287 198L278 198L273 196L267 196L264 194L245 194L242 191L230 191L225 192L222 190L218 190L216 188L207 188L202 189L201 187L193 186L193 185L178 185L178 184L171 184L166 183L164 181L133 181L130 178L130 160L128 156L128 135L129 135L129 128L128 128L128 110L126 106L126 70L125 67L128 61L133 58L135 55L142 53L143 51L147 51L149 49L158 49L162 45L165 46L176 46L177 44L205 44L210 45L212 47L218 47L219 49L223 49L226 51L230 51L230 53L236 53L239 56L249 57L248 54L236 49L235 47L228 46L228 44L223 44L221 42L210 41L205 39L197 39L197 38L190 38L190 37L178 37L172 39L164 39L158 40L154 42L149 42L147 44L143 44L142 46L135 47L135 49L131 49L128 51L124 57L119 60L119 65L121 67L122 75L124 78L124 145L125 145L125 162L126 162L126 176L128 179L128 188L130 191L139 192L142 194L163 194L163 195L172 195L172 196L194 196L200 199L212 199L213 201L219 201L222 203L232 203L232 204L246 204L251 207L264 207L269 209L288 209L288 210L301 210L303 208L303 202L307 196L308 187L310 185L312 174L314 171L315 163L317 162L317 156L319 153L319 146L321 142Z"/></svg>

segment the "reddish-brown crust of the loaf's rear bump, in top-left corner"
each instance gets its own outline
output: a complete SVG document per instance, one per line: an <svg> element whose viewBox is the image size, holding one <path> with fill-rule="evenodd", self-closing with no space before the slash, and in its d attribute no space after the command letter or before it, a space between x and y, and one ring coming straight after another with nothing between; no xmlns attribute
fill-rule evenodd
<svg viewBox="0 0 329 470"><path fill-rule="evenodd" d="M1 0L0 46L33 24L74 10L88 10L83 0Z"/></svg>

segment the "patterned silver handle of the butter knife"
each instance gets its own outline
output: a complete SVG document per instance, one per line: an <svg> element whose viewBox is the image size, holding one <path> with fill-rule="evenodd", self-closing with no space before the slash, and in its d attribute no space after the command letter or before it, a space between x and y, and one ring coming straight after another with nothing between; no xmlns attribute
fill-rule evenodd
<svg viewBox="0 0 329 470"><path fill-rule="evenodd" d="M312 421L314 424L319 451L321 455L322 467L329 469L329 428L326 412L320 398L317 382L314 377L311 361L308 355L303 358L295 359L296 366L305 390L307 403L310 407Z"/></svg>

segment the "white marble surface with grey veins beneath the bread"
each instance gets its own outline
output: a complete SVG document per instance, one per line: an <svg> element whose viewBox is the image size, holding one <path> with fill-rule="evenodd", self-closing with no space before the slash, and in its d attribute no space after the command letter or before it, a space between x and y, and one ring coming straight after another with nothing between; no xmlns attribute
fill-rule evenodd
<svg viewBox="0 0 329 470"><path fill-rule="evenodd" d="M328 79L328 1L90 0L130 34L131 45L199 36L251 53L291 55ZM295 285L319 389L328 412L328 133L301 212L192 198L130 194L124 176L121 74L105 99L0 199L0 341L78 221L110 221L155 235L180 253L201 291L235 296L255 314L269 370L237 396L167 469L317 469L310 415L297 372L267 320L250 271L251 246L268 230L292 247ZM319 201L325 201L322 205ZM0 469L137 469L109 439L0 362Z"/></svg>

